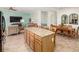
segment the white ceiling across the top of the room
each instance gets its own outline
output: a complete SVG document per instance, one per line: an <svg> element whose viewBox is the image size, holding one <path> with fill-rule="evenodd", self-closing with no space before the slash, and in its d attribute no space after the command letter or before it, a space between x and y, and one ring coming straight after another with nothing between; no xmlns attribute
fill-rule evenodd
<svg viewBox="0 0 79 59"><path fill-rule="evenodd" d="M6 9L9 9L10 7L6 7ZM59 7L12 7L13 9L15 9L16 11L20 11L20 12L28 12L28 13L32 13L35 11L57 11L58 9L60 9Z"/></svg>

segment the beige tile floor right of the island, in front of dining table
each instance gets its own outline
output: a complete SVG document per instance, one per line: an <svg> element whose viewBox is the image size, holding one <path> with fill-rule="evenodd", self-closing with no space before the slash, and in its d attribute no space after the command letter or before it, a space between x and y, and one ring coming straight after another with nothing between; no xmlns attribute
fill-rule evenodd
<svg viewBox="0 0 79 59"><path fill-rule="evenodd" d="M56 49L57 52L78 52L79 51L79 39L70 38L63 35L57 35L56 37Z"/></svg>

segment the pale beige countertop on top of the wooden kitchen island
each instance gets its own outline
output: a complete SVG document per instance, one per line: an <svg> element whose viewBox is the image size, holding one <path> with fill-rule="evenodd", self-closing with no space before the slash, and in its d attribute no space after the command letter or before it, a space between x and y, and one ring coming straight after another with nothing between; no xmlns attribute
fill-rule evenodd
<svg viewBox="0 0 79 59"><path fill-rule="evenodd" d="M52 32L52 31L49 31L49 30L46 30L46 29L35 28L35 27L27 27L25 29L29 30L29 31L41 36L41 37L45 37L45 36L48 36L48 35L51 35L51 34L55 33L55 32Z"/></svg>

